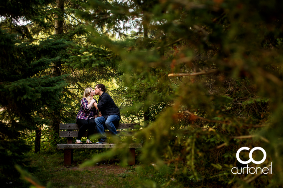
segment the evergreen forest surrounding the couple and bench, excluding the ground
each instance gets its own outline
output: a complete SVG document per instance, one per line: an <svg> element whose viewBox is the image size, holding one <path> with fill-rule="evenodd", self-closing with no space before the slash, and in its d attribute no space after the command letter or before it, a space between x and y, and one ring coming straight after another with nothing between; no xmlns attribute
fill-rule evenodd
<svg viewBox="0 0 283 188"><path fill-rule="evenodd" d="M0 16L1 182L28 169L35 130L56 151L59 124L104 83L141 125L139 164L172 171L141 186L282 186L282 1L2 0ZM232 174L243 146L264 148L251 167L272 174Z"/></svg>

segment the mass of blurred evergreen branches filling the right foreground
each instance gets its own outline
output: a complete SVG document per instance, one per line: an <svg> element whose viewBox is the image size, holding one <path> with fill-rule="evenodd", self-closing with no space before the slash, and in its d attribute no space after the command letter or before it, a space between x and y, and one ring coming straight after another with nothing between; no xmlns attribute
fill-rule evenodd
<svg viewBox="0 0 283 188"><path fill-rule="evenodd" d="M122 1L103 8L112 21L126 16L121 23L132 26L137 18L138 29L152 33L111 42L92 31L93 41L122 59L125 117L149 122L136 134L142 162L174 165L176 179L193 187L282 186L281 167L272 176L231 173L243 146L266 150L261 167L281 166L281 1Z"/></svg>

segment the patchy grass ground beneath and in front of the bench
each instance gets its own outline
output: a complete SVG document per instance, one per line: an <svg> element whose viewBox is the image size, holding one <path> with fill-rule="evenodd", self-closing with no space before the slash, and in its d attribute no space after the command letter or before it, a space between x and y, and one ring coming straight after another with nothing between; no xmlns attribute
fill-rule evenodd
<svg viewBox="0 0 283 188"><path fill-rule="evenodd" d="M64 166L63 152L31 153L32 176L44 187L160 187L172 180L172 169L165 166L156 170L152 165L121 166L118 157L101 161L92 167L79 165L104 150L74 150L74 165ZM29 187L31 184L24 184ZM177 181L168 186L183 187Z"/></svg>

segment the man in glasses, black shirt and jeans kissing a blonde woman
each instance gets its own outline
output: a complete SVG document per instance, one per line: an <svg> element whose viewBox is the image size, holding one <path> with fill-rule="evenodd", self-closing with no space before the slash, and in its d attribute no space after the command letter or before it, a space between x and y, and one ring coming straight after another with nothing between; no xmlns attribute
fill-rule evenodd
<svg viewBox="0 0 283 188"><path fill-rule="evenodd" d="M110 95L105 93L105 90L103 84L97 84L94 88L95 95L99 95L98 104L93 103L94 107L99 110L99 117L95 118L95 122L97 132L101 134L100 141L96 142L96 144L107 143L104 126L106 126L113 135L117 135L115 125L117 126L121 119L119 108L116 106Z"/></svg>

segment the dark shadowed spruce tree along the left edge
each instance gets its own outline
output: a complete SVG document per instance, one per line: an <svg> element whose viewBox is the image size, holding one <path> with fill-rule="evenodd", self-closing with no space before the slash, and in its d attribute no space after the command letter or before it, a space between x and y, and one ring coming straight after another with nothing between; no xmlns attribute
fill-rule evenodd
<svg viewBox="0 0 283 188"><path fill-rule="evenodd" d="M24 153L30 150L24 138L42 125L42 108L52 104L65 87L64 76L41 76L52 58L38 56L40 45L21 43L15 35L0 30L1 43L1 176L2 181L17 177L13 166L26 165ZM57 58L57 57L54 57Z"/></svg>

